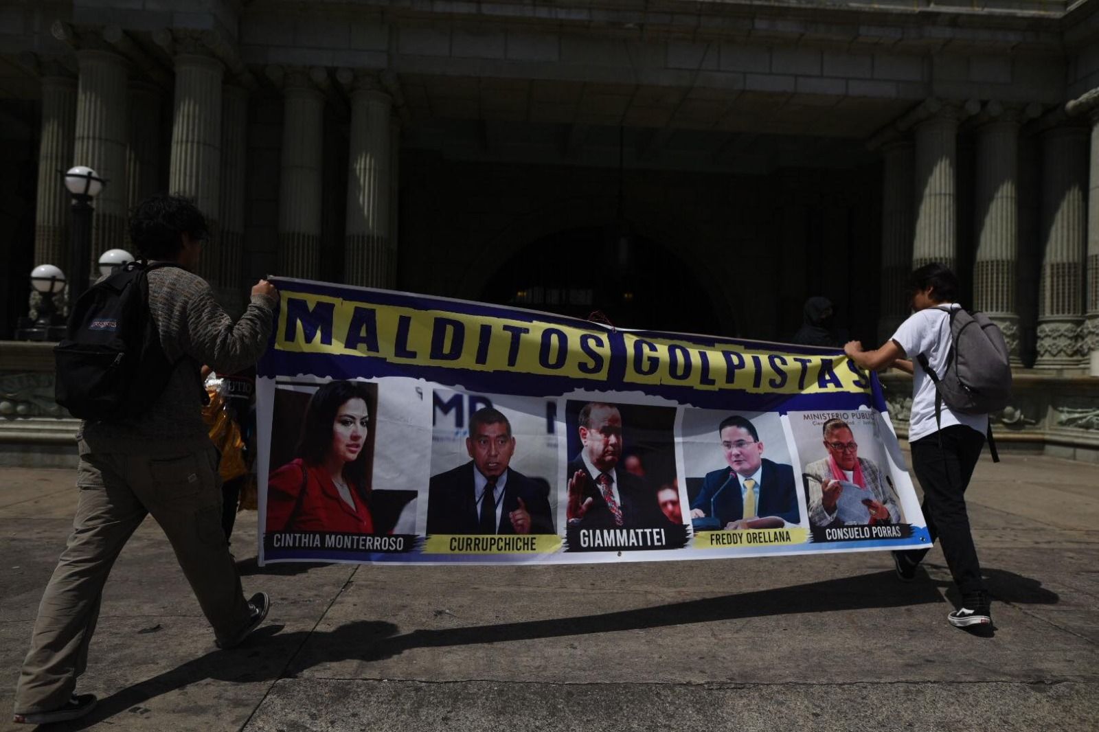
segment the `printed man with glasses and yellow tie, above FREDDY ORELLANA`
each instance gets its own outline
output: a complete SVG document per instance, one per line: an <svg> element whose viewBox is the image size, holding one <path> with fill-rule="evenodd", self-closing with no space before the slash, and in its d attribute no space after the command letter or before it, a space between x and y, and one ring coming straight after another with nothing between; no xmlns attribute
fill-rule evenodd
<svg viewBox="0 0 1099 732"><path fill-rule="evenodd" d="M733 414L718 426L728 467L706 474L691 519L711 518L718 529L778 529L800 521L793 467L763 456L752 421ZM713 526L711 526L713 528Z"/></svg>

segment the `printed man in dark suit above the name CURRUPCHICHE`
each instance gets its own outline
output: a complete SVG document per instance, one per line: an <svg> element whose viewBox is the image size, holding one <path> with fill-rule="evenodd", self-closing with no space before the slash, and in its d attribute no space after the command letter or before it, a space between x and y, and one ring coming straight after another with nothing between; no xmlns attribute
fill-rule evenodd
<svg viewBox="0 0 1099 732"><path fill-rule="evenodd" d="M431 478L429 534L553 534L546 483L509 467L515 437L492 407L469 417L468 463Z"/></svg>

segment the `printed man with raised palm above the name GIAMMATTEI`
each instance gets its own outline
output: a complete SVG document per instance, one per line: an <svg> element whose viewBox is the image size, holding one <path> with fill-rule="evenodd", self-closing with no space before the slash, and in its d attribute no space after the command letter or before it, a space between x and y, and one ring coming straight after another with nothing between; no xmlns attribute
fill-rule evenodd
<svg viewBox="0 0 1099 732"><path fill-rule="evenodd" d="M622 414L603 402L585 404L577 418L582 447L568 463L569 526L581 529L666 528L656 490L644 478L619 468Z"/></svg>

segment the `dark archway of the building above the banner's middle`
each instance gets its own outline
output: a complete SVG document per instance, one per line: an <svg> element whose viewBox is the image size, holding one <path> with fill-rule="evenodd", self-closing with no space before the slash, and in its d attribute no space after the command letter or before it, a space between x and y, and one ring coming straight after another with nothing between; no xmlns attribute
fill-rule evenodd
<svg viewBox="0 0 1099 732"><path fill-rule="evenodd" d="M714 303L670 248L613 226L581 226L522 247L485 286L485 302L586 319L600 311L620 328L721 334Z"/></svg>

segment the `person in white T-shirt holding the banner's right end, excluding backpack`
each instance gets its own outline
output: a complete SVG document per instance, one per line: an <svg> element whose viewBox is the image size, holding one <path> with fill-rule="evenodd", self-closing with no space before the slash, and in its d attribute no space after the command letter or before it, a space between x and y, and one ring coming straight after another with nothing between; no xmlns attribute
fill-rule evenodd
<svg viewBox="0 0 1099 732"><path fill-rule="evenodd" d="M908 431L912 467L923 488L928 531L932 541L940 540L962 594L962 607L950 613L948 620L956 628L968 628L992 622L965 506L965 490L985 445L988 415L961 414L943 403L936 421L935 385L918 361L923 355L936 374L945 370L951 347L950 310L961 308L956 302L958 289L957 277L943 265L920 267L909 281L914 312L892 337L876 351L863 351L862 343L851 341L844 352L863 368L895 366L913 376ZM928 551L893 552L897 576L911 581Z"/></svg>

